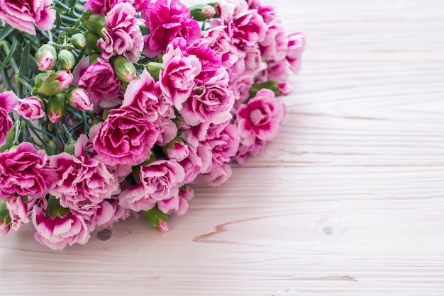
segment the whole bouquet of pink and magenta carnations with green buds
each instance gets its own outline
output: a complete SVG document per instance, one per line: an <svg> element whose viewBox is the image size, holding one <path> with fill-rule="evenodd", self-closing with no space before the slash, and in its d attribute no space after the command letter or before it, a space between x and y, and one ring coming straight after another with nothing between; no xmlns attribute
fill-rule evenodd
<svg viewBox="0 0 444 296"><path fill-rule="evenodd" d="M304 35L221 0L0 0L0 234L51 249L141 213L167 231L277 134Z"/></svg>

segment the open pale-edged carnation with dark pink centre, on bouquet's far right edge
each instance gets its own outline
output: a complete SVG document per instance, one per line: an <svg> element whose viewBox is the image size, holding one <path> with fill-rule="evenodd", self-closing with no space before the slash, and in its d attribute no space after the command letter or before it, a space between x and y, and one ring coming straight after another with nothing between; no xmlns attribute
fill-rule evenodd
<svg viewBox="0 0 444 296"><path fill-rule="evenodd" d="M240 142L251 145L256 138L272 140L279 131L284 115L284 103L278 101L270 89L261 89L248 103L238 108L235 124L239 129Z"/></svg>

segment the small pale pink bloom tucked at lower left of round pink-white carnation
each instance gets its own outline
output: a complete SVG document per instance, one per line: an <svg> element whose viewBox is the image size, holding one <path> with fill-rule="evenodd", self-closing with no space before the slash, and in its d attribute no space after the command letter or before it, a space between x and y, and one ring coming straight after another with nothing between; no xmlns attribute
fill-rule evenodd
<svg viewBox="0 0 444 296"><path fill-rule="evenodd" d="M118 195L118 204L135 212L151 210L156 203L157 200L145 193L145 186L141 183L123 190Z"/></svg>

